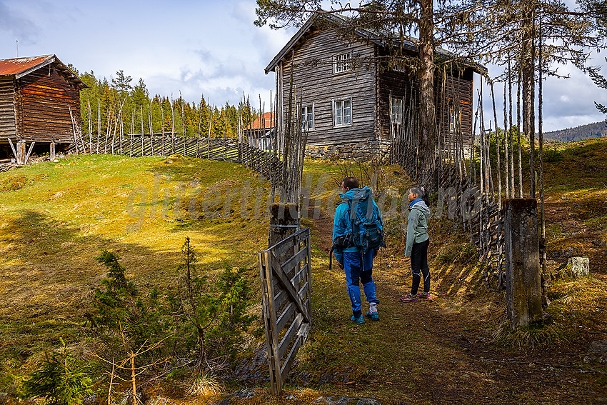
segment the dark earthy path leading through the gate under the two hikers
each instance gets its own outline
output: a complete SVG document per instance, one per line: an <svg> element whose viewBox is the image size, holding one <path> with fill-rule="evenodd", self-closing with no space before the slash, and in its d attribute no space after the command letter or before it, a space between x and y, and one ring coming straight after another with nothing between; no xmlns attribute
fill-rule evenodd
<svg viewBox="0 0 607 405"><path fill-rule="evenodd" d="M331 221L323 217L313 226L321 250L328 254ZM358 329L339 321L332 324L336 334L351 334L344 339L372 341L376 350L364 355L366 371L344 379L353 381L331 381L319 384L318 389L419 404L607 403L607 370L583 364L586 342L548 351L514 351L498 346L491 342L482 315L468 316L468 311L458 310L466 306L465 299L462 303L461 296L443 293L448 286L441 285L436 291L433 281L432 291L438 293L435 299L401 303L398 298L411 285L408 266L408 260L383 259L380 265L376 259L373 277L381 300L380 321L367 321ZM438 269L431 271L436 276ZM345 278L342 281L345 289ZM493 299L505 300L505 296L496 294ZM345 292L336 301L343 306L349 304ZM478 306L479 302L468 304ZM343 360L346 369L360 366ZM368 371L372 369L376 374Z"/></svg>

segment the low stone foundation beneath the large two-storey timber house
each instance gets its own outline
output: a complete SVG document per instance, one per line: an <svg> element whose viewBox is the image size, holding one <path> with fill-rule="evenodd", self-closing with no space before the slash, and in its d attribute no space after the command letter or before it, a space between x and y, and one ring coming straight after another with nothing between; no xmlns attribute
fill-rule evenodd
<svg viewBox="0 0 607 405"><path fill-rule="evenodd" d="M309 145L306 146L306 157L311 159L343 159L355 161L370 161L379 159L386 161L389 145L379 141L368 141L349 145Z"/></svg>

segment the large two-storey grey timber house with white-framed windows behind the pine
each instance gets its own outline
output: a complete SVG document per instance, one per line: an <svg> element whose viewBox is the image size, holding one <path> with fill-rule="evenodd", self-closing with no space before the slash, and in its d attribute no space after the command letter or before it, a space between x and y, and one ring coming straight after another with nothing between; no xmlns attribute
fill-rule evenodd
<svg viewBox="0 0 607 405"><path fill-rule="evenodd" d="M411 125L410 112L418 100L416 75L391 59L390 46L402 46L406 56L417 58L416 41L386 41L363 29L344 38L332 29L343 21L333 14L313 16L266 67L266 74L276 73L278 119L286 120L292 93L308 131L308 156L385 158L398 134ZM438 56L453 56L437 51ZM480 69L436 70L436 121L443 148L456 132L464 144L471 141L473 74Z"/></svg>

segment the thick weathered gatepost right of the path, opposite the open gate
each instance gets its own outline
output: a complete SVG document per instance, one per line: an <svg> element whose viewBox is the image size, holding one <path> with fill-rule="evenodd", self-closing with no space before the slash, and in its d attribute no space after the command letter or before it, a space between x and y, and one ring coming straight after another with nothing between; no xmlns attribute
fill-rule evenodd
<svg viewBox="0 0 607 405"><path fill-rule="evenodd" d="M507 199L503 204L506 254L506 311L512 329L541 321L538 201Z"/></svg>

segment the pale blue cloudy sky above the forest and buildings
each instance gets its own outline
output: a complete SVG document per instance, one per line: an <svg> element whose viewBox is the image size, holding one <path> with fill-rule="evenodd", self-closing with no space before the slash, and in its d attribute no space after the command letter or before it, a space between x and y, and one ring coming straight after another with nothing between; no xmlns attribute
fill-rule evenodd
<svg viewBox="0 0 607 405"><path fill-rule="evenodd" d="M261 95L267 111L274 74L264 68L295 31L254 26L255 6L254 0L0 0L0 59L16 57L18 40L19 56L56 54L98 78L122 69L133 83L144 79L151 94L181 91L189 101L204 94L212 104L237 104L245 93L255 105ZM604 56L595 63L605 66ZM559 73L571 78L544 84L544 131L604 119L593 101L607 104L607 90L572 66ZM498 120L502 91L496 89ZM488 123L491 101L484 105Z"/></svg>

